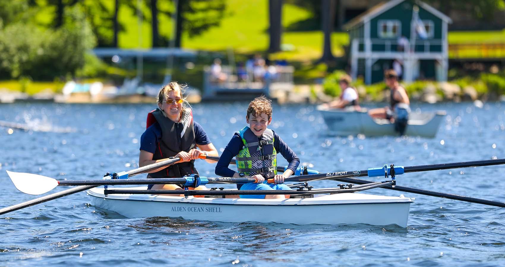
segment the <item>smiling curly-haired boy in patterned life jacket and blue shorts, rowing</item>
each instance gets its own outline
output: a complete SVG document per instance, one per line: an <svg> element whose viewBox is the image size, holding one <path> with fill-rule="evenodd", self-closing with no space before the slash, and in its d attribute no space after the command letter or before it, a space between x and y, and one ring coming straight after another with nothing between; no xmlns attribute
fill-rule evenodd
<svg viewBox="0 0 505 267"><path fill-rule="evenodd" d="M216 165L216 174L222 177L252 177L258 183L237 185L240 190L291 190L283 184L291 176L300 159L277 133L268 129L272 122L271 100L256 97L249 103L245 121L249 126L236 132L224 149ZM289 163L284 173L277 173L277 153ZM237 171L228 168L235 156ZM267 183L274 179L275 184ZM241 198L285 198L285 195L240 195Z"/></svg>

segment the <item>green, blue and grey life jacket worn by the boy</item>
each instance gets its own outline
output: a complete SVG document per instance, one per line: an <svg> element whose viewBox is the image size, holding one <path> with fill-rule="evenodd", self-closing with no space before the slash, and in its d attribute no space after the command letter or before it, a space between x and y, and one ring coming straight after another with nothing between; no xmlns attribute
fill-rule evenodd
<svg viewBox="0 0 505 267"><path fill-rule="evenodd" d="M277 174L277 151L274 147L274 132L266 129L258 138L249 127L238 131L244 143L235 156L238 172L254 176L261 174L265 179Z"/></svg>

